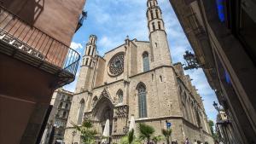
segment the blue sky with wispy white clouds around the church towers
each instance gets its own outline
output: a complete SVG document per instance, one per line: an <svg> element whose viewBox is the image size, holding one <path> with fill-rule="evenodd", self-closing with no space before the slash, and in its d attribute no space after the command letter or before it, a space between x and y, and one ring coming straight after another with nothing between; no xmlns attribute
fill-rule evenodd
<svg viewBox="0 0 256 144"><path fill-rule="evenodd" d="M169 1L158 2L165 21L173 63L184 63L185 50L192 49ZM147 0L87 0L84 9L88 12L88 17L84 20L84 26L74 35L71 47L79 51L80 55L84 55L84 45L90 34L98 37L96 44L100 55L124 43L127 35L131 39L148 41L146 3ZM185 73L193 79L192 84L202 96L208 118L215 121L217 112L212 107L212 101L217 101L217 98L207 83L204 72L198 69ZM73 91L75 85L76 80L64 88Z"/></svg>

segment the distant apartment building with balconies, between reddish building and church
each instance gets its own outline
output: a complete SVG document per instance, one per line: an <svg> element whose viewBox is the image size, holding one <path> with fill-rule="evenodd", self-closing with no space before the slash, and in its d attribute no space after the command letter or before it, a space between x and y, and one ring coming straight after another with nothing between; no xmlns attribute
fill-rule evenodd
<svg viewBox="0 0 256 144"><path fill-rule="evenodd" d="M72 99L72 92L65 89L55 90L50 101L52 110L44 130L41 144L59 144L63 142Z"/></svg>

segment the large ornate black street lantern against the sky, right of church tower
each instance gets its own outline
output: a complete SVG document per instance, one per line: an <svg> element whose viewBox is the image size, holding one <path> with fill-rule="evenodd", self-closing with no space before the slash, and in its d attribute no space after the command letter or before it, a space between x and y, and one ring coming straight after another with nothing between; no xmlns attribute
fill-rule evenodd
<svg viewBox="0 0 256 144"><path fill-rule="evenodd" d="M184 67L184 70L199 68L201 65L198 64L198 61L196 59L196 56L189 52L189 50L185 51L185 55L183 55L183 58L186 60L186 65Z"/></svg>

